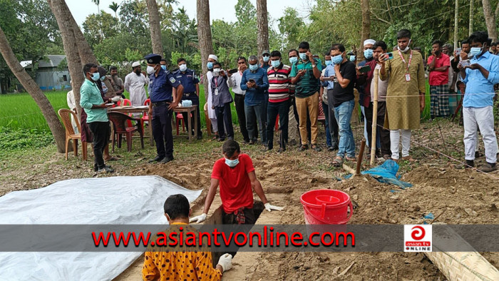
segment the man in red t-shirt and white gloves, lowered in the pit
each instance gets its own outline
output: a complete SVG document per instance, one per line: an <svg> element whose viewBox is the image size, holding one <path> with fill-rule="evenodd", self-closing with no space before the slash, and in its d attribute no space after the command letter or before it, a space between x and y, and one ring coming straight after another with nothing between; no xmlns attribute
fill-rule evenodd
<svg viewBox="0 0 499 281"><path fill-rule="evenodd" d="M226 141L222 146L224 158L213 165L210 190L201 215L190 218L190 222L201 223L206 220L208 210L213 203L218 185L222 199L222 223L254 224L253 190L264 203L265 209L282 210L282 207L270 205L263 193L262 185L254 173L253 162L247 154L240 153L239 143Z"/></svg>

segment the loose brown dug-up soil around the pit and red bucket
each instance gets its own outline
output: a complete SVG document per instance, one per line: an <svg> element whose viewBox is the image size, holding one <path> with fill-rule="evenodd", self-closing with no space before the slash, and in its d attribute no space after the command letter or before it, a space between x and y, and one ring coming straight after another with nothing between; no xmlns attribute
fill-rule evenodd
<svg viewBox="0 0 499 281"><path fill-rule="evenodd" d="M452 123L439 125L446 127L442 135L436 133L438 128L434 123L425 124L423 130L413 135L411 151L418 162L401 163L401 179L413 184L405 190L379 183L371 177L340 181L346 173L330 167L334 153L329 151L299 153L292 148L277 154L264 153L261 147L254 145L242 145L242 152L252 157L257 178L269 202L285 208L271 213L264 210L257 223L303 224L299 197L312 189L337 189L349 193L358 205L349 221L351 224L418 224L425 221L423 216L428 213L438 216L436 222L439 223L498 223L499 172L484 174L456 169L458 163L439 152L462 159L462 128ZM446 145L442 144L441 137L446 139ZM210 185L212 165L220 157L220 148L217 148L195 157L176 159L167 165L146 164L144 157L133 165L135 168L128 168L130 165L124 166L120 161L113 163L113 167L118 170L115 175L160 175L185 188L202 189L200 198L192 203L193 215L198 215ZM61 163L63 156L56 155L56 158ZM483 163L483 158L477 162ZM353 163L347 164L354 167ZM368 163L364 161L363 164L364 169ZM71 169L62 169L62 164L51 165L56 168L46 169L46 175L26 173L27 170L22 169L10 171L13 179L2 184L0 195L11 190L41 187L57 180L91 176L88 172L91 163L85 165L76 164ZM258 199L256 195L255 199ZM219 205L217 195L210 214ZM426 222L430 223L430 220ZM499 253L483 255L498 267ZM138 258L116 280L140 280L142 263L143 257ZM446 280L425 255L418 253L239 252L233 263L233 269L224 275L225 280Z"/></svg>

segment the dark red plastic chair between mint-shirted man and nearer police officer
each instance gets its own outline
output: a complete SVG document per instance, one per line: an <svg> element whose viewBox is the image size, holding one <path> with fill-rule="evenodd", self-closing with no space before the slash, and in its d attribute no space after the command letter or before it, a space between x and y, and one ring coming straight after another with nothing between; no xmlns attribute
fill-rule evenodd
<svg viewBox="0 0 499 281"><path fill-rule="evenodd" d="M113 152L114 152L114 144L116 141L116 137L118 137L118 148L121 148L121 140L123 138L123 134L126 136L126 145L128 151L132 151L132 134L133 132L138 132L140 135L140 144L142 148L144 148L144 129L142 127L142 123L140 123L140 118L132 118L125 113L120 112L110 112L108 113L109 120L113 122ZM127 121L135 121L136 126L127 127L125 123Z"/></svg>

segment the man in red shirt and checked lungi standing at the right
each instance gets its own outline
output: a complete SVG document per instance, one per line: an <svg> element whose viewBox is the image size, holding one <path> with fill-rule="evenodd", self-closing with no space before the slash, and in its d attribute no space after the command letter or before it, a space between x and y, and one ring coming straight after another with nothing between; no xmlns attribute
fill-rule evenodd
<svg viewBox="0 0 499 281"><path fill-rule="evenodd" d="M448 68L450 66L451 59L445 53L442 53L442 42L439 40L433 41L431 56L428 58L432 119L435 117L447 117L451 113L448 100Z"/></svg>

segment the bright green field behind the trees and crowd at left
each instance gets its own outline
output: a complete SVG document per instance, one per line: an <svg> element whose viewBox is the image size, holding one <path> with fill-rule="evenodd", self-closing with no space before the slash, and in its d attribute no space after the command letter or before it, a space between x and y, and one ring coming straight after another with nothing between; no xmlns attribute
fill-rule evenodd
<svg viewBox="0 0 499 281"><path fill-rule="evenodd" d="M54 111L57 112L60 108L68 108L66 103L67 92L68 91L53 91L45 93L45 96L52 104ZM125 96L128 98L130 97L130 94L125 91ZM205 106L205 91L202 85L200 85L200 103L201 126L205 127L205 114L202 111L202 108ZM237 113L234 103L232 103L231 111L232 123L237 125ZM31 98L28 93L9 93L0 95L0 128L1 127L12 130L36 129L38 131L49 131L40 108L38 108L34 99Z"/></svg>

